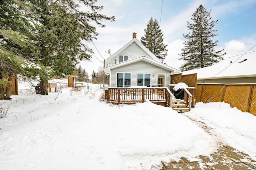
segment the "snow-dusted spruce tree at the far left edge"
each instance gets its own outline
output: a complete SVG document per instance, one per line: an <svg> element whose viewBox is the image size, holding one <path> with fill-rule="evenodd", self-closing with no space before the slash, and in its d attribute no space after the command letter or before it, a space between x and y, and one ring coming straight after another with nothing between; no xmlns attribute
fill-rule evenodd
<svg viewBox="0 0 256 170"><path fill-rule="evenodd" d="M10 100L14 75L34 79L50 73L50 68L33 60L37 56L33 39L38 16L32 12L35 6L26 2L0 0L0 100Z"/></svg>

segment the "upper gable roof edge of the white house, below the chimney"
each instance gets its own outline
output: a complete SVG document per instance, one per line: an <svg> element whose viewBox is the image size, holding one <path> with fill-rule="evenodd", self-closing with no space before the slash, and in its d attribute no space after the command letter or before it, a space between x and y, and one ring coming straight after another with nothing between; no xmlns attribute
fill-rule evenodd
<svg viewBox="0 0 256 170"><path fill-rule="evenodd" d="M129 45L131 45L132 43L136 43L142 50L144 50L150 57L152 57L152 59L159 61L160 59L158 59L151 51L149 51L138 39L133 38L131 41L129 41L126 45L124 45L122 48L120 48L118 51L116 51L114 54L112 54L110 57L107 58L107 61L110 61L111 59L113 59L116 55L118 55L119 53L121 53L124 49L126 49Z"/></svg>

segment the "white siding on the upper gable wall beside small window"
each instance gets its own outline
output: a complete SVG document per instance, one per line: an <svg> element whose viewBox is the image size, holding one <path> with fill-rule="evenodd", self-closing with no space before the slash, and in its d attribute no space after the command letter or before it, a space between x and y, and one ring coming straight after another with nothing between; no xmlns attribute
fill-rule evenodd
<svg viewBox="0 0 256 170"><path fill-rule="evenodd" d="M142 50L136 43L132 43L126 49L121 51L118 55L111 59L111 65L115 64L115 60L117 60L116 64L119 63L119 55L128 55L128 60L135 59L141 56L146 56L152 59L144 50Z"/></svg>

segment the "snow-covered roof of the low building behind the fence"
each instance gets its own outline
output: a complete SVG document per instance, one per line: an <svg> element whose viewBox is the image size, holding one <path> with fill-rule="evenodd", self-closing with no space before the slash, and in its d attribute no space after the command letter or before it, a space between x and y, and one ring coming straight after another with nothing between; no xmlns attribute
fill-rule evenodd
<svg viewBox="0 0 256 170"><path fill-rule="evenodd" d="M256 51L226 57L212 66L188 70L182 74L197 73L197 79L256 77Z"/></svg>

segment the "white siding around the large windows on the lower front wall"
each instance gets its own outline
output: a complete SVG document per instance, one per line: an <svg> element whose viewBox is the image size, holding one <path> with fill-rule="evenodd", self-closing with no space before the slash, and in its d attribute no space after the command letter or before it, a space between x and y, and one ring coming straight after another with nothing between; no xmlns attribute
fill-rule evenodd
<svg viewBox="0 0 256 170"><path fill-rule="evenodd" d="M131 73L131 86L137 86L137 73L149 73L151 74L150 84L151 86L157 84L157 74L164 74L164 82L167 87L170 84L170 71L160 68L145 61L138 61L136 63L128 64L119 68L114 68L110 73L110 86L116 87L117 73Z"/></svg>

